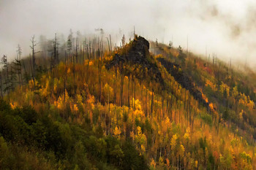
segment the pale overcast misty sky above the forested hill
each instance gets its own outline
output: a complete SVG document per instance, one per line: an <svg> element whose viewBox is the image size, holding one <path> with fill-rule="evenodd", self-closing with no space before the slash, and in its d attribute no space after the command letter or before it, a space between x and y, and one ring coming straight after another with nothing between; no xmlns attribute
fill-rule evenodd
<svg viewBox="0 0 256 170"><path fill-rule="evenodd" d="M173 45L204 55L217 53L256 63L256 2L249 0L0 0L0 55L29 53L31 36L67 36L103 28L106 34L173 39ZM164 37L164 39L163 39ZM248 62L249 63L249 62Z"/></svg>

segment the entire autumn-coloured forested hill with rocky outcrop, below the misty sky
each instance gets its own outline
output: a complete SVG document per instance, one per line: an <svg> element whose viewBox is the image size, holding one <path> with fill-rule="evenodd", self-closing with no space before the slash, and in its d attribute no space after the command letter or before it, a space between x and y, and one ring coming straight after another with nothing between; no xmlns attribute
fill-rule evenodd
<svg viewBox="0 0 256 170"><path fill-rule="evenodd" d="M256 169L252 69L103 34L2 56L0 169Z"/></svg>

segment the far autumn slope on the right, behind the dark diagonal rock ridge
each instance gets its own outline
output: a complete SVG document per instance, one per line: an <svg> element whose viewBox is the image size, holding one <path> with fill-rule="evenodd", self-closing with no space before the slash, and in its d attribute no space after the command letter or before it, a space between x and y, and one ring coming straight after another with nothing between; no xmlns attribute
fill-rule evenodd
<svg viewBox="0 0 256 170"><path fill-rule="evenodd" d="M238 131L238 134L245 136L249 141L252 141L252 136L256 137L255 86L253 86L255 80L248 79L249 72L238 72L216 57L213 58L213 63L209 63L191 53L186 63L181 66L178 64L180 63L178 55L173 55L173 49L165 45L160 45L158 49L157 53L165 56L158 58L162 65L195 98L203 101L204 106L208 106L208 110L217 112L219 120L227 121L228 125L233 126L234 133ZM178 53L178 50L176 52ZM197 89L197 92L194 89ZM200 93L202 95L196 95Z"/></svg>

